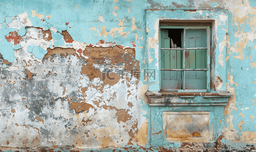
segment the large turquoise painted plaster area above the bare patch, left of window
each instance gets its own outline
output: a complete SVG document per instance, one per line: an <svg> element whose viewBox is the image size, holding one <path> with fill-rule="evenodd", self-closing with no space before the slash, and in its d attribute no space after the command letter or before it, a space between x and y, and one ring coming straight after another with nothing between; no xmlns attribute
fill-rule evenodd
<svg viewBox="0 0 256 152"><path fill-rule="evenodd" d="M0 5L4 5L6 2L1 3ZM108 39L108 41L111 41L112 43L118 43L118 45L122 46L129 46L132 47L130 41L127 41L128 39L135 39L134 34L138 34L144 37L143 40L141 41L141 44L145 46L143 41L146 40L145 36L145 29L143 28L143 18L144 16L137 16L135 19L136 27L137 29L140 30L132 30L132 16L136 16L137 13L139 14L144 14L143 10L136 10L136 12L133 13L128 13L128 8L130 7L129 5L136 5L139 4L139 2L135 1L133 3L125 2L126 5L120 5L118 4L119 10L116 10L117 16L115 17L112 12L109 9L100 9L102 10L101 12L95 12L95 10L99 9L98 5L102 5L103 1L95 1L95 2L88 2L86 5L82 2L68 2L68 3L63 3L60 2L62 5L58 5L58 7L54 6L54 3L58 3L57 1L25 1L24 3L20 2L15 2L15 5L13 2L10 2L8 4L5 4L5 6L2 6L6 8L5 12L3 12L0 17L5 17L5 14L8 14L9 16L17 16L18 14L24 13L25 11L29 14L28 18L32 22L32 25L34 27L42 27L44 30L48 30L50 28L56 28L60 33L63 30L68 30L69 34L72 36L74 40L80 41L81 43L86 42L87 44L97 44L100 39ZM115 4L113 2L105 2L105 5L108 7L114 7ZM43 6L43 7L41 7ZM47 7L46 7L47 6ZM76 9L77 6L77 9ZM92 7L89 7L92 6ZM103 5L104 6L104 5ZM82 12L84 11L83 8L87 8L88 14L93 14L89 16L84 16ZM19 10L19 8L22 8L20 11L17 12L14 10ZM33 9L31 9L33 8ZM65 8L65 9L64 9ZM90 8L90 9L88 9ZM129 8L130 11L134 10L133 7ZM37 14L42 14L43 20L40 20L37 16L32 15L32 11L36 11L35 13ZM124 14L127 15L122 15L119 12L124 12ZM134 10L135 11L135 10ZM73 15L71 12L74 12ZM96 14L97 15L96 15ZM99 16L103 14L104 22L99 21L98 18ZM104 15L104 14L109 14L109 15ZM50 19L46 18L46 15L52 15ZM65 16L64 18L59 18L59 16ZM118 23L120 22L120 19L122 22L124 20L124 25L123 27L119 26ZM141 21L139 21L141 20ZM139 22L138 22L139 21ZM66 24L68 23L68 24ZM110 32L110 34L100 34L102 31L102 26L106 26L106 32ZM90 30L90 28L96 27L96 30L99 30L100 32ZM111 32L113 28L119 28L116 32ZM20 34L23 36L24 33L24 28L20 29ZM122 34L122 32L125 33ZM57 35L60 35L57 34ZM97 36L98 35L98 36ZM91 37L89 39L89 37ZM64 41L55 41L54 45L55 46L63 46ZM136 41L136 44L138 44L138 41ZM139 46L141 46L141 44ZM139 48L138 48L139 49Z"/></svg>

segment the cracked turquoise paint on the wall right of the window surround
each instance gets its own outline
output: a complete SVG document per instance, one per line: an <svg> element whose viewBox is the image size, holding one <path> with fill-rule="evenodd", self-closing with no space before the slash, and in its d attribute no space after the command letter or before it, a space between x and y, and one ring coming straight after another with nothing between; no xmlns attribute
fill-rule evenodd
<svg viewBox="0 0 256 152"><path fill-rule="evenodd" d="M252 6L253 3L250 2ZM248 14L248 18L244 22L236 23L234 22L235 15L229 13L229 42L230 47L237 47L236 43L239 42L246 42L246 46L239 46L238 48L241 49L242 47L242 54L230 51L230 57L227 61L227 68L230 75L233 76L233 81L237 84L231 84L229 82L229 86L234 88L234 92L236 94L236 103L235 109L232 109L230 115L226 115L225 118L228 120L229 116L233 117L233 124L230 122L225 122L225 127L228 129L232 129L233 131L237 132L237 139L234 140L244 140L242 139L242 133L245 131L255 132L256 122L252 118L254 116L254 111L256 109L256 105L254 101L256 100L255 91L256 85L253 83L255 81L256 71L251 63L254 62L254 58L256 56L256 49L255 49L255 40L250 40L248 36L249 33L254 32L254 25L250 26L248 22L251 22L252 16L250 13ZM241 28L238 28L241 27ZM241 37L237 37L234 33L246 33ZM236 58L236 55L242 55L244 60L239 60ZM242 114L242 115L240 115ZM244 121L244 123L243 123ZM239 128L238 124L242 122L241 129ZM233 128L230 127L233 126ZM227 145L231 145L235 148L239 148L239 146L245 146L246 142L236 142L234 144L234 140L226 140Z"/></svg>

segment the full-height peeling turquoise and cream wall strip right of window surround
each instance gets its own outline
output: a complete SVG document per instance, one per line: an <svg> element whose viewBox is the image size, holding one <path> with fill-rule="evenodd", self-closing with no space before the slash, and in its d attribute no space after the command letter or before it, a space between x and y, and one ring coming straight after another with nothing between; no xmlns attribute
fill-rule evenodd
<svg viewBox="0 0 256 152"><path fill-rule="evenodd" d="M255 21L256 2L226 1L229 10L227 89L233 96L225 108L225 139L230 145L255 144Z"/></svg>

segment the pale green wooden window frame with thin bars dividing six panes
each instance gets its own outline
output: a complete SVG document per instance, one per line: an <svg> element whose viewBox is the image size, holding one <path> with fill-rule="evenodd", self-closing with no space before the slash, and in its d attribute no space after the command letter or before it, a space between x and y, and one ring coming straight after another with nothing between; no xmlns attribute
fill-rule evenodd
<svg viewBox="0 0 256 152"><path fill-rule="evenodd" d="M160 38L160 30L161 29L184 29L183 32L183 43L184 43L184 48L180 48L180 49L172 49L172 48L161 48L161 38ZM186 48L186 44L185 44L185 34L186 34L186 29L206 29L207 30L207 47L204 48ZM179 26L179 25L159 25L159 67L161 67L161 50L183 50L183 69L163 69L162 67L160 68L160 70L167 70L167 71L183 71L185 73L185 71L207 71L207 84L206 84L206 89L185 89L185 74L183 74L183 79L182 79L182 89L162 89L161 88L161 72L159 72L159 80L160 80L160 91L161 92L210 92L210 55L211 55L211 28L209 25L204 25L204 26ZM185 50L195 50L195 49L207 49L207 69L185 69ZM181 61L182 62L182 61Z"/></svg>

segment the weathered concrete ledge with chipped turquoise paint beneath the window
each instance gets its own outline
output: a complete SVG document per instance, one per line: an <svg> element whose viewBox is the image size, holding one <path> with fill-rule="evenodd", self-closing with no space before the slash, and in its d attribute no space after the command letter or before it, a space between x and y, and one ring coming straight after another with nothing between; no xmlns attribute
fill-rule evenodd
<svg viewBox="0 0 256 152"><path fill-rule="evenodd" d="M219 92L159 92L146 91L151 106L225 106L232 94Z"/></svg>

